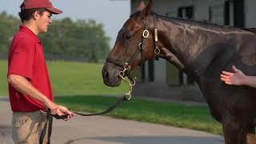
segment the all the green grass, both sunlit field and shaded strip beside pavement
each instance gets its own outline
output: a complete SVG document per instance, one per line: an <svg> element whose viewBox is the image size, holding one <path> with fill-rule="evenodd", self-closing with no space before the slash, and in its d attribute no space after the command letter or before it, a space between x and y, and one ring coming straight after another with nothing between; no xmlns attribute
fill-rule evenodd
<svg viewBox="0 0 256 144"><path fill-rule="evenodd" d="M102 64L83 62L47 62L56 102L77 111L101 111L115 102L106 95L127 92L126 84L116 88L102 83ZM6 61L0 61L0 95L7 95ZM103 95L103 96L102 96ZM104 96L105 95L105 96ZM136 96L135 96L136 97ZM185 106L177 103L149 102L132 98L114 112L116 118L154 122L222 134L221 125L210 117L206 106Z"/></svg>

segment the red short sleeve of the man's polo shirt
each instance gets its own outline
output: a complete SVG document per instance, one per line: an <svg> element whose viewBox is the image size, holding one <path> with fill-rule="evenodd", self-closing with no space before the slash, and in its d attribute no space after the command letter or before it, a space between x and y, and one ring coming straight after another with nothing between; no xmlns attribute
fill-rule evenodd
<svg viewBox="0 0 256 144"><path fill-rule="evenodd" d="M35 44L21 38L10 54L8 74L17 74L30 80L33 77Z"/></svg>

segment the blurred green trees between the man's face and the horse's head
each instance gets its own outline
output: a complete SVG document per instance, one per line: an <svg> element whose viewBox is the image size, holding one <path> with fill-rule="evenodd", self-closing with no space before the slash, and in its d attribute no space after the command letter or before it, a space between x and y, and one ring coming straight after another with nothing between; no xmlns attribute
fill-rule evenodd
<svg viewBox="0 0 256 144"><path fill-rule="evenodd" d="M109 40L105 36L102 24L94 20L78 20L70 18L55 20L46 34L42 34L46 54L69 57L89 58L90 62L106 58L109 53Z"/></svg>

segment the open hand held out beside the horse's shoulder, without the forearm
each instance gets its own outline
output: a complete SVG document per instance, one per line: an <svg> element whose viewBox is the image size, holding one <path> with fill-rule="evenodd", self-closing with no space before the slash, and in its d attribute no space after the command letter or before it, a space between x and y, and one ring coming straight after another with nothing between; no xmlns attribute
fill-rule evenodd
<svg viewBox="0 0 256 144"><path fill-rule="evenodd" d="M232 66L234 73L228 71L222 71L221 80L228 85L242 86L245 85L246 75L238 70L235 66Z"/></svg>

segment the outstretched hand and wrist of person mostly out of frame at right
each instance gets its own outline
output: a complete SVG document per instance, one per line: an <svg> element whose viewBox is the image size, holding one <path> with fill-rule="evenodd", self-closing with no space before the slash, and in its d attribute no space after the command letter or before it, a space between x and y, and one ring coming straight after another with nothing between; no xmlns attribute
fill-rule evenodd
<svg viewBox="0 0 256 144"><path fill-rule="evenodd" d="M256 88L256 76L247 76L243 74L241 70L238 70L235 66L232 66L234 73L222 71L221 80L228 85L236 86L251 86Z"/></svg>

